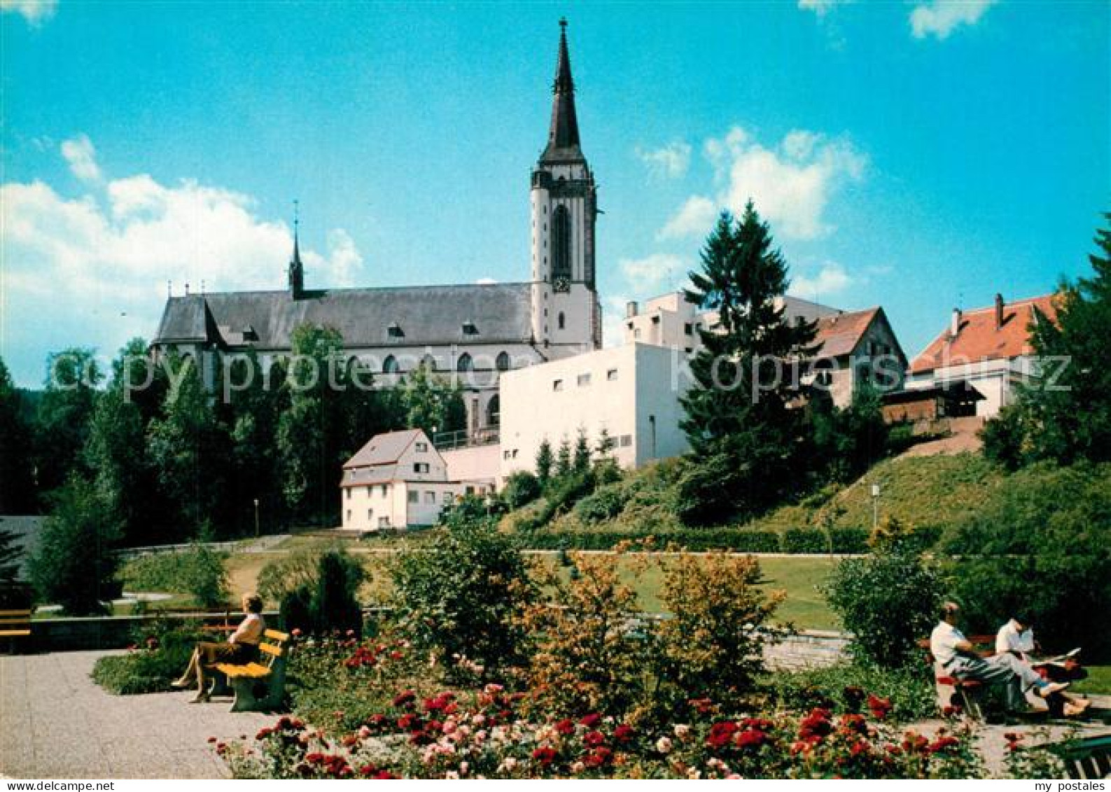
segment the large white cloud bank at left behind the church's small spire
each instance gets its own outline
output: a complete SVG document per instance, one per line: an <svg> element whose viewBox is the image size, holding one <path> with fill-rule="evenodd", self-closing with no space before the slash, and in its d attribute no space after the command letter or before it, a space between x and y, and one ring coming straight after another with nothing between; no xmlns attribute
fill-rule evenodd
<svg viewBox="0 0 1111 792"><path fill-rule="evenodd" d="M208 291L282 289L293 248L291 229L259 217L250 196L147 174L81 198L42 181L2 184L0 227L0 339L40 360L73 343L111 355L132 335L149 339L167 281L179 294L202 281ZM362 255L342 229L327 232L322 250L301 250L311 287L364 281Z"/></svg>

